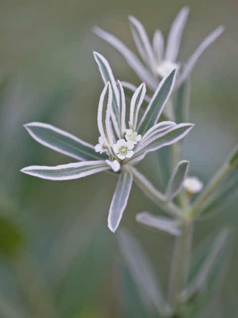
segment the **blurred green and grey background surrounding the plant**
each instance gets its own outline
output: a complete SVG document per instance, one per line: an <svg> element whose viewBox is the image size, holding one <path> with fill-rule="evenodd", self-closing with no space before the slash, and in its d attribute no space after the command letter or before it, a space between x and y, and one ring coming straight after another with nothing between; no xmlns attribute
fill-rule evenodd
<svg viewBox="0 0 238 318"><path fill-rule="evenodd" d="M150 38L156 28L167 36L183 5L191 10L180 61L213 29L226 26L191 77L190 122L196 126L183 157L191 161L189 173L206 183L238 143L238 1L0 1L0 318L50 318L53 313L61 318L145 318L136 296L123 291L123 264L107 228L117 178L100 173L56 182L20 173L26 165L72 162L37 144L22 125L47 122L95 145L103 83L93 50L108 59L117 79L140 81L91 27L115 34L136 52L127 16L137 17ZM156 184L156 173L149 171L152 160L148 156L141 168ZM236 233L229 273L211 317L238 317L237 206L235 201L195 227L194 246L224 224ZM161 213L133 185L122 224L142 243L165 287L174 239L140 228L135 214L141 211Z"/></svg>

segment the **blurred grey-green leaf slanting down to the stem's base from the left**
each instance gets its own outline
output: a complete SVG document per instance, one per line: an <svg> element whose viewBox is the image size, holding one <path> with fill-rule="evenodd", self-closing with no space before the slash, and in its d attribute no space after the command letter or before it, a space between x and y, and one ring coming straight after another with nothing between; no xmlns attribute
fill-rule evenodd
<svg viewBox="0 0 238 318"><path fill-rule="evenodd" d="M158 277L139 242L125 229L117 233L119 247L140 294L146 294L159 313L169 311Z"/></svg>

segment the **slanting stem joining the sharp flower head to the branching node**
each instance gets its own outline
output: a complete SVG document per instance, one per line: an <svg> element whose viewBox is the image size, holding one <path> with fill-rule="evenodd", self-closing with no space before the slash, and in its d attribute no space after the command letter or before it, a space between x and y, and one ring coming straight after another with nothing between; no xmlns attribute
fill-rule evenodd
<svg viewBox="0 0 238 318"><path fill-rule="evenodd" d="M166 202L164 194L157 190L153 184L145 178L137 169L131 167L133 179L138 187L159 207L176 218L183 219L182 211L173 202Z"/></svg>

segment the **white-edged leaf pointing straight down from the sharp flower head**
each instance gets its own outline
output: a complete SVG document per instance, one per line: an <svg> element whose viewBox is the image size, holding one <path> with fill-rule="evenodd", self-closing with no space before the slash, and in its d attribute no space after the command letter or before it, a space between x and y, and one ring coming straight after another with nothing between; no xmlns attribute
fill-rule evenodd
<svg viewBox="0 0 238 318"><path fill-rule="evenodd" d="M130 171L123 171L119 176L108 216L108 227L113 233L117 230L126 207L132 180L133 177Z"/></svg>

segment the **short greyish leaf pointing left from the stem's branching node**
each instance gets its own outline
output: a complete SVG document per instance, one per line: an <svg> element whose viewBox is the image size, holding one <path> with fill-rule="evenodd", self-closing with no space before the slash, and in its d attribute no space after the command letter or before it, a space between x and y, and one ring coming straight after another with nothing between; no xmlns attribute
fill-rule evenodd
<svg viewBox="0 0 238 318"><path fill-rule="evenodd" d="M179 223L176 220L159 217L157 215L150 214L149 212L141 212L136 214L135 217L138 223L157 229L162 232L167 232L171 235L180 236L181 230L179 229Z"/></svg>

